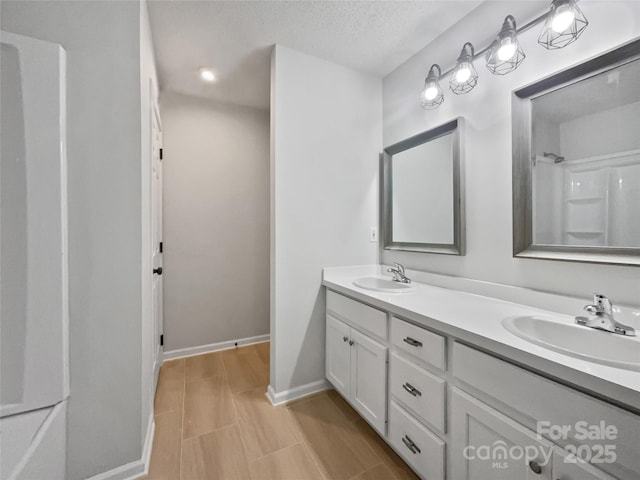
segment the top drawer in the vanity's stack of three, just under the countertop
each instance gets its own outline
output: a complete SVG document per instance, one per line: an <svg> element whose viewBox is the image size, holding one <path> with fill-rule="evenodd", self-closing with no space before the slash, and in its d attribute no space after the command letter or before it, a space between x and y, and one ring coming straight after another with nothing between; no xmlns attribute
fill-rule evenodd
<svg viewBox="0 0 640 480"><path fill-rule="evenodd" d="M391 343L439 370L445 370L445 338L399 318L391 318Z"/></svg>

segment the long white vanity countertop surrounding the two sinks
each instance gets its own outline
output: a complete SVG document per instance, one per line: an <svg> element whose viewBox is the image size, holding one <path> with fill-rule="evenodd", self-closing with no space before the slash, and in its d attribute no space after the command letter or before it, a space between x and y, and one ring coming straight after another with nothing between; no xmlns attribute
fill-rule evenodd
<svg viewBox="0 0 640 480"><path fill-rule="evenodd" d="M330 290L474 343L533 370L640 410L640 372L557 353L517 337L502 325L505 318L525 315L553 315L558 322L573 324L574 316L415 281L409 293L377 292L353 284L360 277L380 276L381 271L386 271L386 268L378 265L325 268L322 284ZM576 312L579 314L580 311ZM638 342L640 356L640 337L630 340Z"/></svg>

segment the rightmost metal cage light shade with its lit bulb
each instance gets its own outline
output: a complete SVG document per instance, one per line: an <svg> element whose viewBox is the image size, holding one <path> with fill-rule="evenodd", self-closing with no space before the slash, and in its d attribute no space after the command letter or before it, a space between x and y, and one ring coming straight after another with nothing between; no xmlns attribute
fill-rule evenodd
<svg viewBox="0 0 640 480"><path fill-rule="evenodd" d="M549 50L564 48L575 42L587 25L587 18L574 0L553 0L538 43Z"/></svg>

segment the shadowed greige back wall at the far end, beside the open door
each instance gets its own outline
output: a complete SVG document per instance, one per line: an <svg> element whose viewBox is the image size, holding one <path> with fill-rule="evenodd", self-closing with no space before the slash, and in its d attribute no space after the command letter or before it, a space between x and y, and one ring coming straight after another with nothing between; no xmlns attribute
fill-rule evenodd
<svg viewBox="0 0 640 480"><path fill-rule="evenodd" d="M269 113L163 92L165 352L269 333Z"/></svg>

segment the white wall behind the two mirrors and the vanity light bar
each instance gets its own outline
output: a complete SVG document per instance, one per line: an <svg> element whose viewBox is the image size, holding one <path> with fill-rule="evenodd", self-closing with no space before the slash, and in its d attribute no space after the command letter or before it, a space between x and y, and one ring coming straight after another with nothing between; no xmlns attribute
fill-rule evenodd
<svg viewBox="0 0 640 480"><path fill-rule="evenodd" d="M505 15L512 13L524 23L547 8L548 2L486 2L384 79L384 145L457 116L467 120L467 254L382 251L383 263L398 261L417 270L584 298L601 290L619 303L638 303L640 276L635 267L512 257L511 91L640 35L640 9L635 1L585 0L579 5L590 25L577 42L547 51L536 43L539 27L531 29L521 35L527 58L518 70L497 77L478 60L480 79L475 90L462 96L445 92L445 102L437 110L424 111L418 102L429 65L439 63L446 70L464 41L480 48L496 34Z"/></svg>

